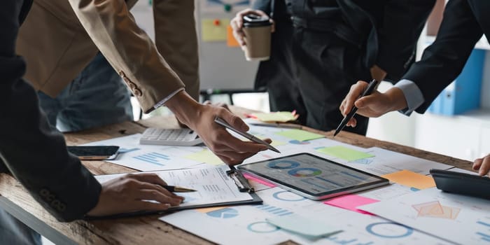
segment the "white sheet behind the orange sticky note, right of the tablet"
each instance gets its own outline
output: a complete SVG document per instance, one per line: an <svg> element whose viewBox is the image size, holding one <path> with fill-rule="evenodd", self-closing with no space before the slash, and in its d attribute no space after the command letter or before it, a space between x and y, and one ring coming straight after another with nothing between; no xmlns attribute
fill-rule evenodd
<svg viewBox="0 0 490 245"><path fill-rule="evenodd" d="M351 148L351 146L349 146ZM365 172L384 175L407 169L417 174L427 175L430 169L450 169L452 166L444 165L440 162L433 162L422 158L416 158L411 155L388 151L383 148L368 148L365 153L374 155L373 158L365 158L353 161L346 161L340 158L335 158L335 162L340 162L349 167L363 170Z"/></svg>

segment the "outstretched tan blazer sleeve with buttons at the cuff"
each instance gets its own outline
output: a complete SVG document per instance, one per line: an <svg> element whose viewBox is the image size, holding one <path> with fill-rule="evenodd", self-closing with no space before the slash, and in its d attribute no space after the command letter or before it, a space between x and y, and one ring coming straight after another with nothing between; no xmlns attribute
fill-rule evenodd
<svg viewBox="0 0 490 245"><path fill-rule="evenodd" d="M152 111L155 104L184 86L151 38L134 22L124 0L69 0L69 3L145 112Z"/></svg>

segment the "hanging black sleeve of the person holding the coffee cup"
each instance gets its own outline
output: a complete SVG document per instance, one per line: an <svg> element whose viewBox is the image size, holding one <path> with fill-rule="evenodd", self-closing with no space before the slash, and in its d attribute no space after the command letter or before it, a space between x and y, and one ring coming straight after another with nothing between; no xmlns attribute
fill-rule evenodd
<svg viewBox="0 0 490 245"><path fill-rule="evenodd" d="M414 62L416 42L435 0L388 0L379 27L376 64L388 80L399 80Z"/></svg>

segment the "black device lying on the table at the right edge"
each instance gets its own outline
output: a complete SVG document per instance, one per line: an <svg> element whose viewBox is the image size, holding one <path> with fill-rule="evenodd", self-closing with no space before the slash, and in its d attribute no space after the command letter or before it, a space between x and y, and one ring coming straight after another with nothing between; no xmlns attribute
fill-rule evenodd
<svg viewBox="0 0 490 245"><path fill-rule="evenodd" d="M437 189L448 193L470 195L490 199L490 179L488 176L464 174L441 169L430 169Z"/></svg>

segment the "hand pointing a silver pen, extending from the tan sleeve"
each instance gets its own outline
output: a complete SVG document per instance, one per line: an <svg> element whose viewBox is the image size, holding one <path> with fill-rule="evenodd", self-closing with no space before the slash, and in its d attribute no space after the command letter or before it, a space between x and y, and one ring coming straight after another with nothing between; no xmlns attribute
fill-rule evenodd
<svg viewBox="0 0 490 245"><path fill-rule="evenodd" d="M238 116L221 106L203 105L195 102L186 92L179 92L166 103L182 123L195 130L204 144L228 165L237 165L267 146L233 137L225 127L214 123L216 116L235 129L247 132L248 126ZM272 142L265 139L267 143Z"/></svg>

